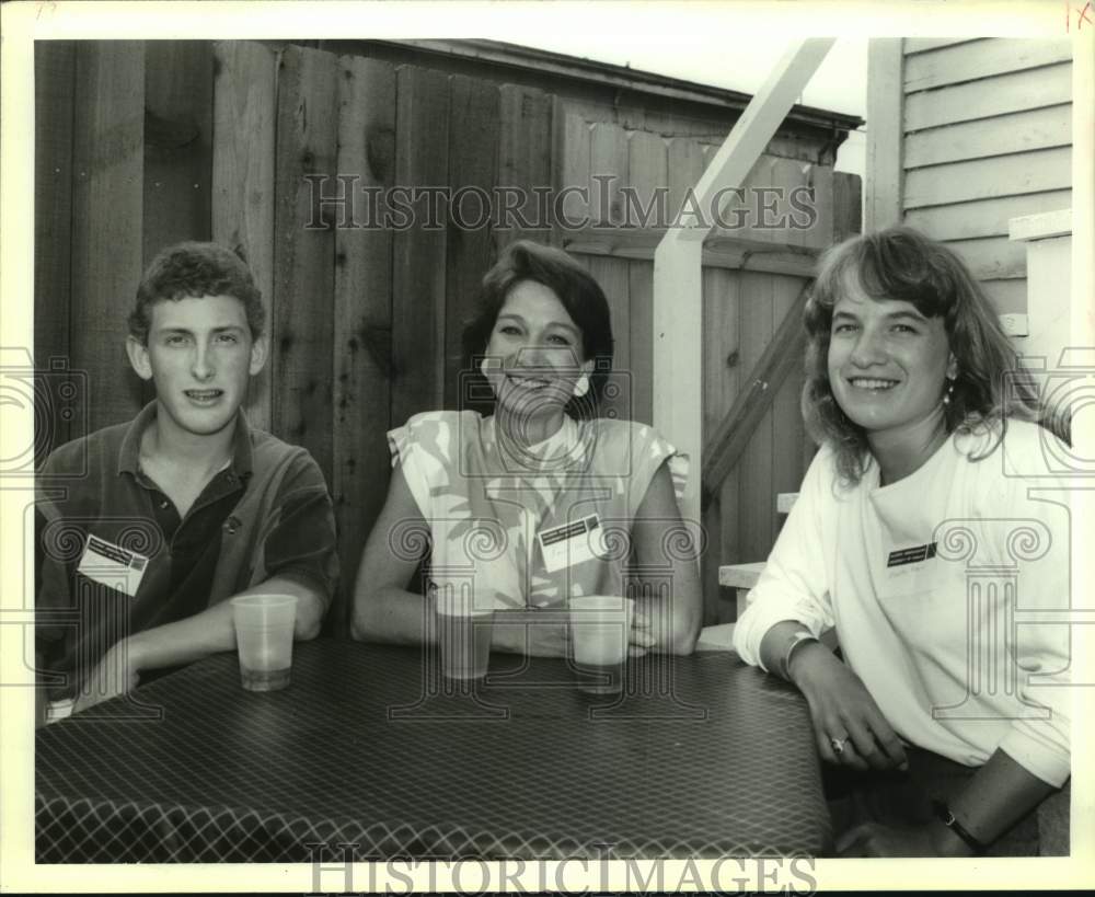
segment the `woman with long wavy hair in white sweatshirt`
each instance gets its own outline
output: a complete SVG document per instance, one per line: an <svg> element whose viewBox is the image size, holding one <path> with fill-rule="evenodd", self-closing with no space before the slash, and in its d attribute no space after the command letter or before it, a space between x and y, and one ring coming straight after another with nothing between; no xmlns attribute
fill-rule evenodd
<svg viewBox="0 0 1095 897"><path fill-rule="evenodd" d="M1060 486L1067 424L963 262L910 228L831 249L806 330L821 448L735 647L802 690L843 768L842 855L1059 850L1069 633L1036 618L1069 607L1069 511L1030 487Z"/></svg>

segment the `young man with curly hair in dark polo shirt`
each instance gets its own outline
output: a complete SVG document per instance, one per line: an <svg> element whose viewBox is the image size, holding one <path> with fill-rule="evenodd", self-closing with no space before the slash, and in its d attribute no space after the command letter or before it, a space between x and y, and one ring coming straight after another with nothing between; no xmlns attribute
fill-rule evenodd
<svg viewBox="0 0 1095 897"><path fill-rule="evenodd" d="M164 250L141 280L126 349L155 400L38 478L39 723L47 700L81 712L233 649L235 595L295 595L296 637L319 632L338 573L323 474L241 411L263 319L251 272L214 243Z"/></svg>

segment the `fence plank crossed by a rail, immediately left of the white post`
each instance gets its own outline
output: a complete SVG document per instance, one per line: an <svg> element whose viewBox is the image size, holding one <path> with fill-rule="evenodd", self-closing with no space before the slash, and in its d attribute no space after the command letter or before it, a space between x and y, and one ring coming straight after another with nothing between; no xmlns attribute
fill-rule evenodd
<svg viewBox="0 0 1095 897"><path fill-rule="evenodd" d="M656 134L635 131L627 141L629 186L644 209L652 209L647 227L657 227L671 214L668 204L668 152ZM653 204L653 205L652 205ZM637 283L636 283L637 281ZM631 263L631 404L636 421L654 417L654 265Z"/></svg>

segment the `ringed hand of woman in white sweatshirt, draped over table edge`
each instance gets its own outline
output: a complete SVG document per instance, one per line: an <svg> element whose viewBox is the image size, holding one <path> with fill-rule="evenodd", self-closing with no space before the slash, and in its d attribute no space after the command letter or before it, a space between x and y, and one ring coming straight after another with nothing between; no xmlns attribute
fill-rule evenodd
<svg viewBox="0 0 1095 897"><path fill-rule="evenodd" d="M817 643L805 645L795 653L791 669L809 704L825 760L864 772L908 768L901 739L875 699L832 652Z"/></svg>

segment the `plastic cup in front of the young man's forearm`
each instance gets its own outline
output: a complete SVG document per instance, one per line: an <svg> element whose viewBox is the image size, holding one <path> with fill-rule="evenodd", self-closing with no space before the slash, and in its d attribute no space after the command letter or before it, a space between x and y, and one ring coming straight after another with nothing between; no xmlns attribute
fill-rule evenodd
<svg viewBox="0 0 1095 897"><path fill-rule="evenodd" d="M277 691L289 685L295 595L240 595L232 599L240 679L247 691Z"/></svg>

